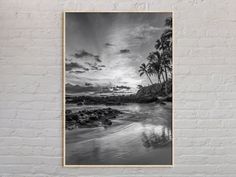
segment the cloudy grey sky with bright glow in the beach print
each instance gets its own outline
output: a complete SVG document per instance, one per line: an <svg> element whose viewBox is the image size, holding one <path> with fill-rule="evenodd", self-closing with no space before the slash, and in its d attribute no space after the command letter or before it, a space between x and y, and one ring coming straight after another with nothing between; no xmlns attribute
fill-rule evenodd
<svg viewBox="0 0 236 177"><path fill-rule="evenodd" d="M66 13L67 92L135 93L139 76L171 13ZM152 78L155 82L156 78Z"/></svg>

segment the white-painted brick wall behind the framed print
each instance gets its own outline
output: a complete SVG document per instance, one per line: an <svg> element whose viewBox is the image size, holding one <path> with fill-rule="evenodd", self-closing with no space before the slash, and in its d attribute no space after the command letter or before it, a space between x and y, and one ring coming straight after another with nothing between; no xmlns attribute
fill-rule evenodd
<svg viewBox="0 0 236 177"><path fill-rule="evenodd" d="M62 167L62 11L174 11L175 167ZM236 1L0 0L1 177L235 177Z"/></svg>

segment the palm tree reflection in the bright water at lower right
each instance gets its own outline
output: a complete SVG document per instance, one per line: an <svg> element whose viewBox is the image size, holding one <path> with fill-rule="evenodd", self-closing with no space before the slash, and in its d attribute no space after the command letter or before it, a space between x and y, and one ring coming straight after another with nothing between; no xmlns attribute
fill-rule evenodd
<svg viewBox="0 0 236 177"><path fill-rule="evenodd" d="M142 133L143 146L146 148L159 148L171 142L171 130L166 126L156 126L145 129Z"/></svg>

